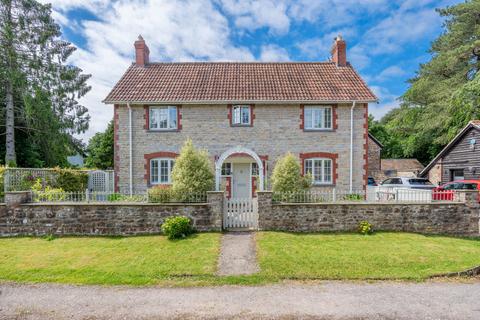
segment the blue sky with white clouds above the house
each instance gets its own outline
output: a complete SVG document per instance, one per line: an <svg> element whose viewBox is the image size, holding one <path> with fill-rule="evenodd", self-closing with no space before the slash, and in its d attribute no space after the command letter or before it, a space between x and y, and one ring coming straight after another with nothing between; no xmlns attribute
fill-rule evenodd
<svg viewBox="0 0 480 320"><path fill-rule="evenodd" d="M333 38L380 98L380 118L398 106L428 49L442 32L435 8L453 0L42 0L78 50L71 63L92 74L82 99L92 116L88 139L106 128L101 103L133 61L139 34L151 61L324 61Z"/></svg>

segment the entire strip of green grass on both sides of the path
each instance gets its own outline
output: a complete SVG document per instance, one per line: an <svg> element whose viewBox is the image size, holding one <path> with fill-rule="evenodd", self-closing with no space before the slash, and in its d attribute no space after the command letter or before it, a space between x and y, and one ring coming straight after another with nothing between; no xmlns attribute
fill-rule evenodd
<svg viewBox="0 0 480 320"><path fill-rule="evenodd" d="M258 285L286 279L410 279L480 264L480 239L379 232L257 233L261 272L215 275L220 233L0 239L0 280L101 285Z"/></svg>

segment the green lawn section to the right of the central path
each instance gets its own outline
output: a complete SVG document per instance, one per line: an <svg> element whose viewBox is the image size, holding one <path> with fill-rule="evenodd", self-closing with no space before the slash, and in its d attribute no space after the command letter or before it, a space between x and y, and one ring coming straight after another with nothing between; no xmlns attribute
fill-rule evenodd
<svg viewBox="0 0 480 320"><path fill-rule="evenodd" d="M260 232L262 274L280 279L413 279L480 265L480 239L378 232Z"/></svg>

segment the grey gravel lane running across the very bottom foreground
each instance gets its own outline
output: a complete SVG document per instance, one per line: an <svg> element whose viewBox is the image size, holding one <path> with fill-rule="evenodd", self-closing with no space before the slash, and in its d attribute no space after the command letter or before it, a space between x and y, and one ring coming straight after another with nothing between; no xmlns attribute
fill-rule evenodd
<svg viewBox="0 0 480 320"><path fill-rule="evenodd" d="M480 319L479 281L0 290L0 319Z"/></svg>

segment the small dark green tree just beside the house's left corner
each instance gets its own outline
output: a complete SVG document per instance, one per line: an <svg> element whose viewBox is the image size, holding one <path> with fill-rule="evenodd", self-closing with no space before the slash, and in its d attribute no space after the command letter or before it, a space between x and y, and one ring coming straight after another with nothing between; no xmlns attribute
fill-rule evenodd
<svg viewBox="0 0 480 320"><path fill-rule="evenodd" d="M104 132L97 132L88 142L87 159L85 166L88 168L111 169L113 168L113 121Z"/></svg>

